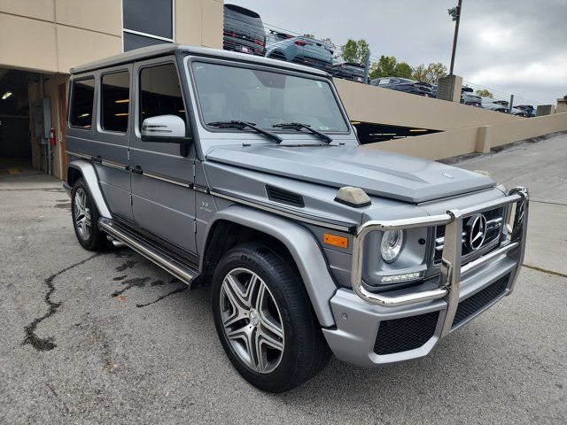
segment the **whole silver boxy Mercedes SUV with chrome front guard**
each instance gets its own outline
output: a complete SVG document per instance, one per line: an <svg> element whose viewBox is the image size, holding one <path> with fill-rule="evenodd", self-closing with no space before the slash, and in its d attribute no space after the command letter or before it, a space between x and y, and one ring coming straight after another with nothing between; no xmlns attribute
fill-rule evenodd
<svg viewBox="0 0 567 425"><path fill-rule="evenodd" d="M514 289L526 189L360 146L328 73L167 44L70 84L79 243L210 285L221 344L262 390L297 387L331 352L423 357Z"/></svg>

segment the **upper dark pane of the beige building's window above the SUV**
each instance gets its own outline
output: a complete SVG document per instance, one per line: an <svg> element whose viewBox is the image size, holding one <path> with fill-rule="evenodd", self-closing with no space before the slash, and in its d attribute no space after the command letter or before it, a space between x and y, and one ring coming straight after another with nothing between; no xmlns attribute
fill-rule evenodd
<svg viewBox="0 0 567 425"><path fill-rule="evenodd" d="M172 0L122 0L124 28L173 38Z"/></svg>

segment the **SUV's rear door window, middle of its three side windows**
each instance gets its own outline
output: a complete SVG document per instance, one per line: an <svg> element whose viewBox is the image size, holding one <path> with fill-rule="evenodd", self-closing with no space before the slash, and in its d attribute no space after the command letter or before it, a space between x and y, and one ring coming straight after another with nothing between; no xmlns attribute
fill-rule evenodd
<svg viewBox="0 0 567 425"><path fill-rule="evenodd" d="M128 104L130 102L130 74L106 73L102 76L101 126L105 130L128 130Z"/></svg>

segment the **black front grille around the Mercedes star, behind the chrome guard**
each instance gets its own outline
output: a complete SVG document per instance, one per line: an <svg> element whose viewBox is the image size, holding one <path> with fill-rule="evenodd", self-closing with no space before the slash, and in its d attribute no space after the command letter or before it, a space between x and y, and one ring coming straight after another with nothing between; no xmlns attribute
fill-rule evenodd
<svg viewBox="0 0 567 425"><path fill-rule="evenodd" d="M469 244L466 243L469 235L463 228L462 231L462 264L465 264L480 255L491 251L498 244L500 238L502 223L504 221L504 207L495 208L490 211L483 212L486 218L486 236L485 242L482 246L473 251L470 249ZM463 219L465 222L467 218ZM435 228L435 253L433 257L433 265L439 266L443 257L443 244L445 243L445 226L438 226Z"/></svg>

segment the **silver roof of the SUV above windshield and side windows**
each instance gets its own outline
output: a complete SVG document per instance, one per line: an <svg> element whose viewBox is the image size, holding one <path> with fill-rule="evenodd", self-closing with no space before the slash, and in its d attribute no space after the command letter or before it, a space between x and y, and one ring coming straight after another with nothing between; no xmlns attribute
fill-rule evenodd
<svg viewBox="0 0 567 425"><path fill-rule="evenodd" d="M329 73L325 73L324 71L315 68L292 64L290 62L284 62L278 59L245 55L244 53L237 53L235 51L209 49L207 47L184 46L175 43L158 44L156 46L149 46L149 47L143 47L142 49L130 50L125 53L120 53L118 55L111 56L109 58L104 58L104 59L96 60L94 62L89 62L88 64L85 65L75 66L71 68L71 73L86 73L88 71L94 71L96 69L127 64L130 62L136 62L148 58L157 58L159 56L172 55L175 54L175 52L177 51L182 51L190 55L196 55L196 56L206 56L209 58L213 57L213 58L237 60L240 62L248 62L252 64L275 66L278 68L290 69L292 71L299 71L301 73L313 73L315 75L330 76Z"/></svg>

